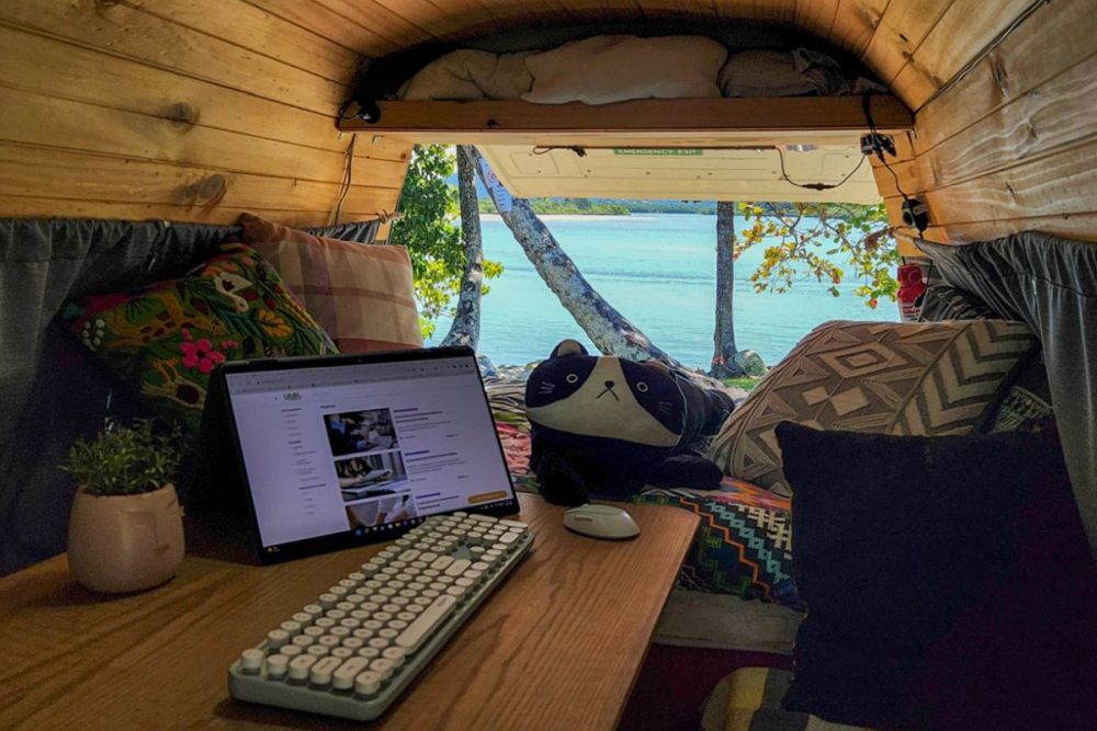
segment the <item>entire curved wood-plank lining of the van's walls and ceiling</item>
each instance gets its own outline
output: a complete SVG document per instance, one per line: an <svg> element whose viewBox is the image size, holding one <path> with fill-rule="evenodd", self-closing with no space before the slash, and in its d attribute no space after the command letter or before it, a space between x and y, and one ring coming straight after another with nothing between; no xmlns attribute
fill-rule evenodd
<svg viewBox="0 0 1097 731"><path fill-rule="evenodd" d="M927 237L1097 239L1097 0L4 0L0 215L330 219L359 58L524 25L796 25L916 112L894 165ZM950 88L947 88L950 87ZM943 90L943 91L942 91ZM408 150L359 139L343 218L392 210ZM901 197L875 169L895 222Z"/></svg>

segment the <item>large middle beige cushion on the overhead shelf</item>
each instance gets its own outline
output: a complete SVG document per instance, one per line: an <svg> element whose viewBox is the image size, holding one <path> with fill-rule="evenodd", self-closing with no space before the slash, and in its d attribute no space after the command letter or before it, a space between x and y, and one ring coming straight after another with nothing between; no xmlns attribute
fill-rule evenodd
<svg viewBox="0 0 1097 731"><path fill-rule="evenodd" d="M716 75L726 57L726 48L701 36L595 36L528 57L533 89L522 99L541 104L609 104L720 96Z"/></svg>

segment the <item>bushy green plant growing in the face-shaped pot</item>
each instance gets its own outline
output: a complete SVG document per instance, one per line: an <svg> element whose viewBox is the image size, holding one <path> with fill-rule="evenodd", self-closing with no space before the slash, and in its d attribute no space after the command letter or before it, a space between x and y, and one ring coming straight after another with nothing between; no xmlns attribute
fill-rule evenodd
<svg viewBox="0 0 1097 731"><path fill-rule="evenodd" d="M77 439L60 468L93 495L152 492L174 480L180 437L178 425L157 434L145 419L133 426L111 425L91 442Z"/></svg>

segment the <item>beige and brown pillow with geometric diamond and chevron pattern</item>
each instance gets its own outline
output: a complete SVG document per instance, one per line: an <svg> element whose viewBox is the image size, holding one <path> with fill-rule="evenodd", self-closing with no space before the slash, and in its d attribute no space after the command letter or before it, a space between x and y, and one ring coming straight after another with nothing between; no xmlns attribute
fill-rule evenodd
<svg viewBox="0 0 1097 731"><path fill-rule="evenodd" d="M826 322L728 416L710 457L726 475L788 495L774 434L782 421L880 434L972 434L1036 345L1027 325L1004 320Z"/></svg>

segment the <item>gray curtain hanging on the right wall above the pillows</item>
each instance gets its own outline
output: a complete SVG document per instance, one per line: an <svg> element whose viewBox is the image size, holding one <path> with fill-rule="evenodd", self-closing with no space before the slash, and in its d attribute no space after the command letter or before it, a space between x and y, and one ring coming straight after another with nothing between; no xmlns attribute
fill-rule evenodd
<svg viewBox="0 0 1097 731"><path fill-rule="evenodd" d="M1097 243L1036 232L965 245L917 243L947 284L1040 336L1063 452L1097 557Z"/></svg>

